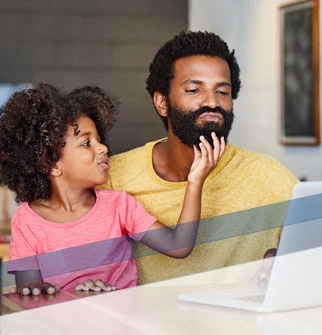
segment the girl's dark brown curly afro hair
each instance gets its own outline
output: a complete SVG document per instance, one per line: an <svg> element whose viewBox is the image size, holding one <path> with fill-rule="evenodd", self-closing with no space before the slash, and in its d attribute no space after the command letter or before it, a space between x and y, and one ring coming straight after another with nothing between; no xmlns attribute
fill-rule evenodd
<svg viewBox="0 0 322 335"><path fill-rule="evenodd" d="M61 157L68 125L77 130L79 117L89 116L106 142L117 111L98 87L67 95L40 83L16 92L0 109L0 178L17 203L50 197L50 172Z"/></svg>

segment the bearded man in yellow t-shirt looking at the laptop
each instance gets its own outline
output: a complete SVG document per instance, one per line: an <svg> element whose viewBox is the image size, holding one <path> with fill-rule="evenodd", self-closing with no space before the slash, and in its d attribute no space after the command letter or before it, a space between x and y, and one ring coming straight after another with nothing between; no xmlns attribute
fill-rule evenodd
<svg viewBox="0 0 322 335"><path fill-rule="evenodd" d="M209 141L212 131L228 140L239 73L234 52L216 34L181 33L162 46L150 65L147 90L168 136L112 156L104 187L126 190L159 221L176 222L193 145L200 135ZM289 200L296 183L273 158L227 144L204 185L204 220L194 251L174 260L139 249L139 284L262 258L278 244L275 219L283 213L268 205Z"/></svg>

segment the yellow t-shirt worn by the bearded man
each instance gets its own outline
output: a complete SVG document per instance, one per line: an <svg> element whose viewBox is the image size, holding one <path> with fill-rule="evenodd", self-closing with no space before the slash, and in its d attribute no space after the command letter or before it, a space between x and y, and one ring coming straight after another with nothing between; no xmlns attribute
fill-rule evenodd
<svg viewBox="0 0 322 335"><path fill-rule="evenodd" d="M109 178L102 187L127 191L160 222L173 226L187 182L168 182L154 172L152 149L159 141L110 157ZM274 158L228 144L204 184L193 252L174 259L136 244L138 283L261 259L278 244L287 200L297 182Z"/></svg>

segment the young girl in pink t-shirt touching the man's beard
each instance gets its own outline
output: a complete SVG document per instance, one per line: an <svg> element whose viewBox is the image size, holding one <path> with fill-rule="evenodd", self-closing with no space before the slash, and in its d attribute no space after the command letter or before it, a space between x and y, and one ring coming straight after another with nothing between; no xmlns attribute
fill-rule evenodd
<svg viewBox="0 0 322 335"><path fill-rule="evenodd" d="M107 131L116 114L111 98L90 86L66 95L39 84L1 108L0 177L22 203L12 218L8 265L18 293L135 286L132 239L171 257L192 251L203 183L224 141L213 134L212 150L200 138L178 225L171 229L126 192L94 189L108 178Z"/></svg>

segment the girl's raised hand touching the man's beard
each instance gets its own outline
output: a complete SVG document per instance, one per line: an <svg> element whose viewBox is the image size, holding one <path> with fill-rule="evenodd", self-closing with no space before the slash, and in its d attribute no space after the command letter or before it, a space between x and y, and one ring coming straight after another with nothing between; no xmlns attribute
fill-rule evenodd
<svg viewBox="0 0 322 335"><path fill-rule="evenodd" d="M223 137L220 142L214 132L211 133L213 139L214 149L212 149L209 142L200 136L200 150L194 146L194 161L190 168L188 181L190 183L201 183L205 181L209 173L217 166L220 158L225 152L226 144Z"/></svg>

